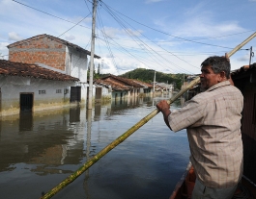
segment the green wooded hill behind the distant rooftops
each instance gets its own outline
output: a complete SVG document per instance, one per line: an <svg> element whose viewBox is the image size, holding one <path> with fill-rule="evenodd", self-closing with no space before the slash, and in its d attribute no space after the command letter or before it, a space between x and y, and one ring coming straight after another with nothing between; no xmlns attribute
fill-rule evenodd
<svg viewBox="0 0 256 199"><path fill-rule="evenodd" d="M128 79L140 80L146 83L153 83L155 70L145 69L145 68L137 68L123 75L119 75L120 77L125 77ZM162 72L156 71L156 82L157 83L165 83L165 84L174 84L175 87L181 88L183 82L184 74L166 74Z"/></svg>

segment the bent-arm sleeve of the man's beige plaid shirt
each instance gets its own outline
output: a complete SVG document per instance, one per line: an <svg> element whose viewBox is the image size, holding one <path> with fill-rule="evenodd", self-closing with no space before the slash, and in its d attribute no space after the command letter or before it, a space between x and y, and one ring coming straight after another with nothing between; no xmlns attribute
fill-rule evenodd
<svg viewBox="0 0 256 199"><path fill-rule="evenodd" d="M203 123L206 102L192 98L187 101L185 107L171 112L168 121L171 129L178 132L187 127L198 127Z"/></svg>

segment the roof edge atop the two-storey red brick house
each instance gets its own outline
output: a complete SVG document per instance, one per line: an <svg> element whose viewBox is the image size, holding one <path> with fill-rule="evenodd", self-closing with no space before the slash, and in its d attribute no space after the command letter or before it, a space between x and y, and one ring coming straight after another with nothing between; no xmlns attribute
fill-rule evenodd
<svg viewBox="0 0 256 199"><path fill-rule="evenodd" d="M47 37L47 38L49 38L49 39L51 39L51 40L55 40L56 42L62 43L62 44L64 44L64 45L67 45L67 46L69 46L69 47L71 47L71 48L74 48L74 49L83 51L83 52L86 53L86 55L91 56L91 52L90 52L90 51L85 50L85 49L83 49L82 47L80 47L80 46L78 46L78 45L76 45L76 44L73 44L73 43L71 43L71 42L69 42L69 41L67 41L67 40L61 39L61 38L59 38L59 37L53 37L53 36L46 35L46 34L38 35L38 36L30 37L30 38L26 38L26 39L23 39L23 40L19 40L19 41L17 41L17 42L14 42L14 43L8 45L7 47L8 47L8 48L12 48L12 47L14 47L14 46L21 45L21 44L23 44L23 43L29 42L30 40L37 40L37 39L40 39L40 38L43 38L43 37ZM94 57L97 58L97 59L100 59L100 56L98 56L98 55L95 55Z"/></svg>

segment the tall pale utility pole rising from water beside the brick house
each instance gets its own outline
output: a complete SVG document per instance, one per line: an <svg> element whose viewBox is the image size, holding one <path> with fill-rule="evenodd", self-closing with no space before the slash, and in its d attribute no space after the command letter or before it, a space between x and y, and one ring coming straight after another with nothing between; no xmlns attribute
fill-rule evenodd
<svg viewBox="0 0 256 199"><path fill-rule="evenodd" d="M88 95L88 110L93 107L93 81L94 81L94 57L95 57L95 18L97 10L97 0L93 4L93 23L92 23L92 41L91 41L91 65L90 65L90 79L89 79L89 95Z"/></svg>

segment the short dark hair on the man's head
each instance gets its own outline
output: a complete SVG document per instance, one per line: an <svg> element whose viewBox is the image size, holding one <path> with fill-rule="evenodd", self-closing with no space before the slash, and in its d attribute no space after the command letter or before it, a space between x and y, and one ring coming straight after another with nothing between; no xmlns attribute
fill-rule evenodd
<svg viewBox="0 0 256 199"><path fill-rule="evenodd" d="M212 66L213 72L215 74L220 73L221 71L225 72L225 76L229 79L230 76L230 62L225 57L213 56L206 59L201 63L203 66Z"/></svg>

